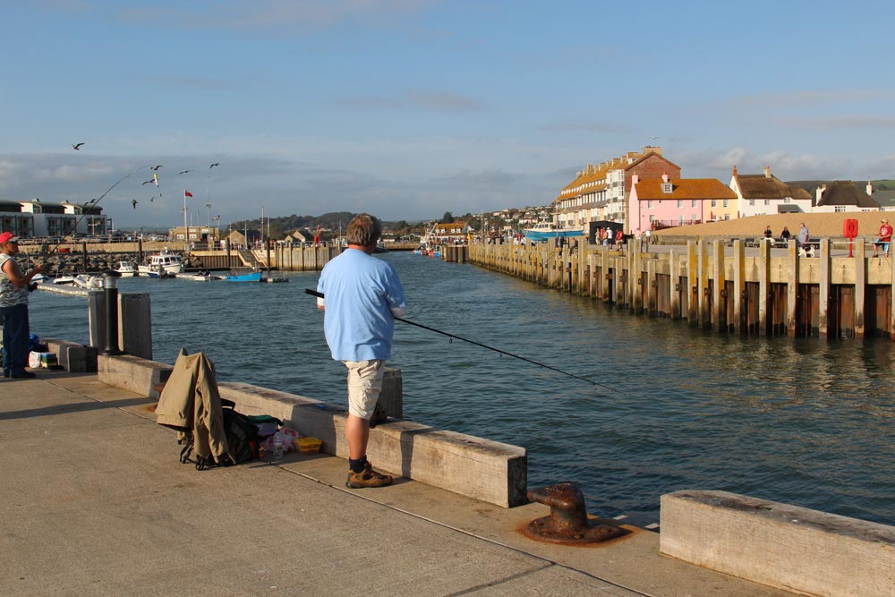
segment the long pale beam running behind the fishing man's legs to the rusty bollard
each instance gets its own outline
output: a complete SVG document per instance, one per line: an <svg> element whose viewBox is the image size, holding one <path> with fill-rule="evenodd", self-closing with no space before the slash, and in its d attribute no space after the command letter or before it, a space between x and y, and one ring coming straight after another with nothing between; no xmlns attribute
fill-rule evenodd
<svg viewBox="0 0 895 597"><path fill-rule="evenodd" d="M218 382L217 388L241 413L275 416L302 435L321 439L321 451L347 457L345 408L251 384ZM390 420L370 430L367 454L386 471L501 507L527 501L525 448Z"/></svg>

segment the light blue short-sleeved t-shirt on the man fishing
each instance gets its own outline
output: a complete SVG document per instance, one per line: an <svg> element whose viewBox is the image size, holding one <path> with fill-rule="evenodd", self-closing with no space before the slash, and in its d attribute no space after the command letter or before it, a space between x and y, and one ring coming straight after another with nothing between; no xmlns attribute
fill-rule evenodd
<svg viewBox="0 0 895 597"><path fill-rule="evenodd" d="M320 272L326 307L323 329L337 361L386 360L395 331L393 311L406 308L395 268L358 249L346 249Z"/></svg>

